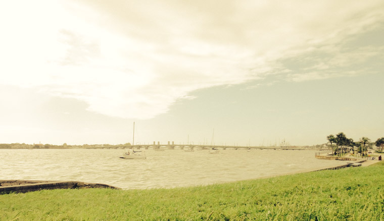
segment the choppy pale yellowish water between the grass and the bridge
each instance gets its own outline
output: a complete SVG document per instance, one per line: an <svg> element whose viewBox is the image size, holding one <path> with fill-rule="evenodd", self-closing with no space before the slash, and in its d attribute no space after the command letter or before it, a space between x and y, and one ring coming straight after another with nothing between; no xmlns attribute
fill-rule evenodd
<svg viewBox="0 0 384 221"><path fill-rule="evenodd" d="M146 151L121 159L116 149L0 149L0 180L104 183L123 189L208 185L334 167L311 150Z"/></svg>

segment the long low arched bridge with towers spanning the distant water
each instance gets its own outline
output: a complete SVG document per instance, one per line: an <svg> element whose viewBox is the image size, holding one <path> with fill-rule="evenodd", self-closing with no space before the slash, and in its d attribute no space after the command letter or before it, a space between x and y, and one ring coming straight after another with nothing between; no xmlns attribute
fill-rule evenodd
<svg viewBox="0 0 384 221"><path fill-rule="evenodd" d="M154 141L153 144L135 144L135 145L115 145L115 146L102 146L102 147L89 147L92 149L273 149L273 150L304 150L296 147L289 146L231 146L231 145L207 145L207 144L172 144L168 141L168 144L160 144L160 142Z"/></svg>

